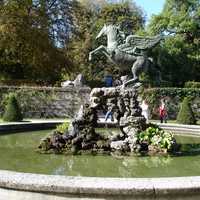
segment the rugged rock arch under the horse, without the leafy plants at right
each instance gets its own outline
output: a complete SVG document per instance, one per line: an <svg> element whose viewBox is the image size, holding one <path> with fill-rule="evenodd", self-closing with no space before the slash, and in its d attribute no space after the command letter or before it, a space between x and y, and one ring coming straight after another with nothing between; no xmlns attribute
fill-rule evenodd
<svg viewBox="0 0 200 200"><path fill-rule="evenodd" d="M42 141L41 149L54 152L134 152L140 148L137 135L147 127L134 88L94 88L88 104L81 106L66 133L57 131ZM104 136L96 132L98 112L110 110L117 120L119 134Z"/></svg>

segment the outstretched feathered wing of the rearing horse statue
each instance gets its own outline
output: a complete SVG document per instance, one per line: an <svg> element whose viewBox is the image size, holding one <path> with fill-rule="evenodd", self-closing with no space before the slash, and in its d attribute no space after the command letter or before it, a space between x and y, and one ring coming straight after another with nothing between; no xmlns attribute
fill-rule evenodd
<svg viewBox="0 0 200 200"><path fill-rule="evenodd" d="M137 49L146 50L153 48L160 42L161 39L161 35L157 35L154 37L141 37L137 35L129 35L126 38L126 44L129 44L128 46L132 46L133 48L136 47Z"/></svg>

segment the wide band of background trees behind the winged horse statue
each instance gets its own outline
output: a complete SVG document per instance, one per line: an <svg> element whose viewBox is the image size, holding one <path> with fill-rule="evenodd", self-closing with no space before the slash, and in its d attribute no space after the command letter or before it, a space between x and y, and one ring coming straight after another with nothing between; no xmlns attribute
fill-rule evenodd
<svg viewBox="0 0 200 200"><path fill-rule="evenodd" d="M132 0L7 0L0 1L0 79L52 84L74 78L102 80L119 73L102 55L88 53L104 23L117 23L128 34L168 35L150 52L162 79L183 86L200 79L200 3L166 0L160 15L145 28L145 15ZM129 72L130 73L130 72ZM153 72L150 72L150 74ZM143 75L150 84L154 77Z"/></svg>

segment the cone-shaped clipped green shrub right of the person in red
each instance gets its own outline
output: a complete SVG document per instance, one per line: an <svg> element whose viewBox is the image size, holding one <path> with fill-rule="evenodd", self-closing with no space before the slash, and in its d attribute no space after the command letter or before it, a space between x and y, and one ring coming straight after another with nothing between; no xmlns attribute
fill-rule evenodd
<svg viewBox="0 0 200 200"><path fill-rule="evenodd" d="M185 97L181 103L177 116L177 122L180 124L196 124L196 119L190 106L190 101L187 97Z"/></svg>

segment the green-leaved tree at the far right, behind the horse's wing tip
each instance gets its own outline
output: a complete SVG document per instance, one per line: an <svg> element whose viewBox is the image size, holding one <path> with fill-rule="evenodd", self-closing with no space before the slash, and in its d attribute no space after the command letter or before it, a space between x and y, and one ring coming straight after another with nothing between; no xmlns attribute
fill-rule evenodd
<svg viewBox="0 0 200 200"><path fill-rule="evenodd" d="M200 79L200 2L167 0L160 15L153 16L148 31L168 35L156 49L165 80L174 86Z"/></svg>

